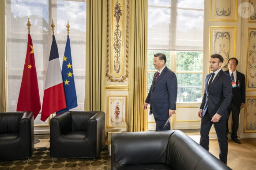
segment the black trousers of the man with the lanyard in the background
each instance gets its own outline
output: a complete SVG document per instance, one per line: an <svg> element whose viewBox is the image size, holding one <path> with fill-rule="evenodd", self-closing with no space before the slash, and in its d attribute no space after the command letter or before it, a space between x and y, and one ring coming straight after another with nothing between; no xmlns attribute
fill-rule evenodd
<svg viewBox="0 0 256 170"><path fill-rule="evenodd" d="M240 114L240 105L236 105L232 99L230 106L228 107L228 112L230 116L230 112L232 112L232 132L231 132L231 138L237 138L237 130L239 126L239 114ZM229 133L229 124L228 124L229 119L227 119L226 123L226 134L228 135Z"/></svg>

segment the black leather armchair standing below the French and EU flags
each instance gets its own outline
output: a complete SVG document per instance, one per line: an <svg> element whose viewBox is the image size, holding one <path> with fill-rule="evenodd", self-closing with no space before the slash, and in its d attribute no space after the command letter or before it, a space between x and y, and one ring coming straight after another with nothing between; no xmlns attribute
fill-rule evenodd
<svg viewBox="0 0 256 170"><path fill-rule="evenodd" d="M104 146L104 112L65 111L51 119L51 157L96 158Z"/></svg>

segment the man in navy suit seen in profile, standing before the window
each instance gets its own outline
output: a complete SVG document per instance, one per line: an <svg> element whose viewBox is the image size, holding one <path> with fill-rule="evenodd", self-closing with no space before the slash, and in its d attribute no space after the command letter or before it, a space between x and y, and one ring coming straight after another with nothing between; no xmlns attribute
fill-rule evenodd
<svg viewBox="0 0 256 170"><path fill-rule="evenodd" d="M175 114L177 100L177 77L166 66L166 55L154 54L154 73L151 88L143 105L143 110L150 104L156 130L170 130L169 116Z"/></svg>

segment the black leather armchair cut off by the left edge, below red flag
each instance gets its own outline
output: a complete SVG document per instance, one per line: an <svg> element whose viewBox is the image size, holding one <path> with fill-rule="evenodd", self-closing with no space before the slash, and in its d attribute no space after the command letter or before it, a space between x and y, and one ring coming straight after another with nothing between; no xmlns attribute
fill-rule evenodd
<svg viewBox="0 0 256 170"><path fill-rule="evenodd" d="M0 161L29 159L33 151L33 112L0 113Z"/></svg>

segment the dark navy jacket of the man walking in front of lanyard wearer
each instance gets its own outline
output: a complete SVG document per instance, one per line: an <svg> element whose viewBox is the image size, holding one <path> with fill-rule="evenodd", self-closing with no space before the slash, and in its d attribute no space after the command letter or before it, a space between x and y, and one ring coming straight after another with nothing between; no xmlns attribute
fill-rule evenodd
<svg viewBox="0 0 256 170"><path fill-rule="evenodd" d="M205 115L207 109L209 115L213 117L215 113L221 115L221 119L228 118L228 106L231 101L232 85L230 76L220 70L208 89L208 80L211 74L205 79L204 94L200 109L203 109L202 116Z"/></svg>

